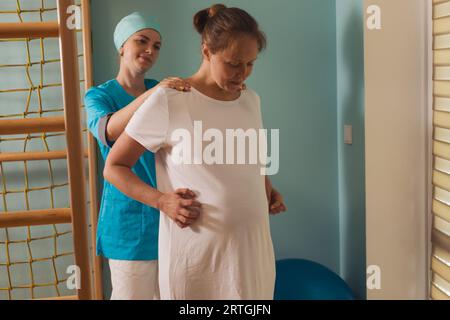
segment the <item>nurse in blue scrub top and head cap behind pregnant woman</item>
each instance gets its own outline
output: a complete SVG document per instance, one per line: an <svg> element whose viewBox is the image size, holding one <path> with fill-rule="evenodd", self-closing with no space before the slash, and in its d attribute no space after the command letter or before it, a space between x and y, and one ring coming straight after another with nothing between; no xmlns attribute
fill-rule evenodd
<svg viewBox="0 0 450 320"><path fill-rule="evenodd" d="M98 141L103 160L134 112L158 86L190 90L180 78L167 78L161 83L145 78L161 48L160 27L151 17L137 12L124 17L116 26L114 43L120 54L117 77L92 87L85 96L88 127ZM133 171L156 188L153 153L145 152ZM185 201L181 199L191 195L187 189L164 197L154 191L161 202L174 208L174 216L175 207ZM186 225L191 222L183 221ZM179 225L183 227L183 222ZM158 209L128 198L104 181L97 254L109 259L111 299L158 299L158 228Z"/></svg>

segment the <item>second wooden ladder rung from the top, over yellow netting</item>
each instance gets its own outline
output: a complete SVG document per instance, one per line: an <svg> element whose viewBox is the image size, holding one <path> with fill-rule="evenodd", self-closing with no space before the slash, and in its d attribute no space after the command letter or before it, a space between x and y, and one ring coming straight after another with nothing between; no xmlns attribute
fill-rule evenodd
<svg viewBox="0 0 450 320"><path fill-rule="evenodd" d="M0 120L0 134L65 131L64 117Z"/></svg>

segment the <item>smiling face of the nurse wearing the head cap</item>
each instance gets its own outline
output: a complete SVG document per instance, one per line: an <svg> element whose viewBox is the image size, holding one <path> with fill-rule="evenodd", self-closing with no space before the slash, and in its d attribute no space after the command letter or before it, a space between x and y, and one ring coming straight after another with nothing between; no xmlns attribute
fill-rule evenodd
<svg viewBox="0 0 450 320"><path fill-rule="evenodd" d="M161 36L152 29L134 33L124 43L121 50L121 63L137 73L147 72L159 57Z"/></svg>

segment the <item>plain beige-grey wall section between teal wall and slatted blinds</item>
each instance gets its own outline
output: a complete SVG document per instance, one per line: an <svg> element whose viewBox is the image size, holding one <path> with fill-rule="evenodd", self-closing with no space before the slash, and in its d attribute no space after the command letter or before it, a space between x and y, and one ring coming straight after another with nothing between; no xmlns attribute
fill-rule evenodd
<svg viewBox="0 0 450 320"><path fill-rule="evenodd" d="M381 29L364 31L367 265L381 272L369 299L428 298L430 4L364 1L382 12Z"/></svg>

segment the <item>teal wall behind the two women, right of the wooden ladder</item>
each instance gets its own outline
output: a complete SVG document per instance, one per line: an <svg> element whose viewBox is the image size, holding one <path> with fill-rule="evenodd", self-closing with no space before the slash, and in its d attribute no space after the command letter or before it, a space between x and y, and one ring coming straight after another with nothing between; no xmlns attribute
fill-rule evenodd
<svg viewBox="0 0 450 320"><path fill-rule="evenodd" d="M95 83L115 77L114 26L136 10L156 16L163 30L161 56L148 76L190 76L201 62L192 17L213 3L93 1ZM362 4L359 0L222 3L247 10L268 37L268 48L247 84L261 96L265 127L280 129L280 171L272 181L289 211L271 218L276 257L320 262L364 297L363 96L352 91L363 85L362 25L358 25L362 18L356 16ZM344 122L354 126L351 147L342 144Z"/></svg>

